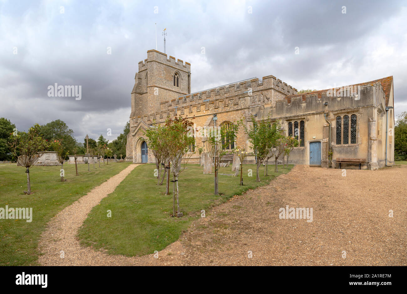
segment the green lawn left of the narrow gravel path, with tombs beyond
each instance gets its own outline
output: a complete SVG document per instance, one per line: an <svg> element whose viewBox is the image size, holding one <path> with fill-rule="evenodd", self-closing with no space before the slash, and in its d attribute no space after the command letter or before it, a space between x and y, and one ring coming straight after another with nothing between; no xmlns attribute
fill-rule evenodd
<svg viewBox="0 0 407 294"><path fill-rule="evenodd" d="M109 165L79 164L79 176L75 165L64 164L66 182L60 181L61 166L32 167L30 169L31 195L27 191L24 167L0 164L0 207L33 208L32 222L25 219L0 219L0 265L36 265L39 252L38 240L46 223L66 206L88 193L108 178L119 173L128 162Z"/></svg>

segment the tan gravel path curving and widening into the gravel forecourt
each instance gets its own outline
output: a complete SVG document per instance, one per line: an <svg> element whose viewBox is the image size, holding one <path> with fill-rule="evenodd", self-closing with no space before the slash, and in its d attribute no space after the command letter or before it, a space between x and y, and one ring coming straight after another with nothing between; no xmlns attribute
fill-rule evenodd
<svg viewBox="0 0 407 294"><path fill-rule="evenodd" d="M134 167L49 222L40 242L42 265L407 265L407 165L348 169L346 177L340 169L295 166L207 211L157 259L81 247L75 235L86 215ZM313 221L280 219L286 205L313 208Z"/></svg>

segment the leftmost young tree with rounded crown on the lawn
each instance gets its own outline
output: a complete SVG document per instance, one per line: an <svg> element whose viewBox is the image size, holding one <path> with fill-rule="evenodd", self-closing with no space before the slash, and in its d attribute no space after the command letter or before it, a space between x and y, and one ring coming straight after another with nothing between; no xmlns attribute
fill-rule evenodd
<svg viewBox="0 0 407 294"><path fill-rule="evenodd" d="M39 159L38 152L45 151L49 147L47 140L42 138L39 132L39 125L35 124L28 130L28 133L19 132L9 138L9 148L17 158L17 162L26 168L27 189L24 193L31 194L30 167Z"/></svg>

